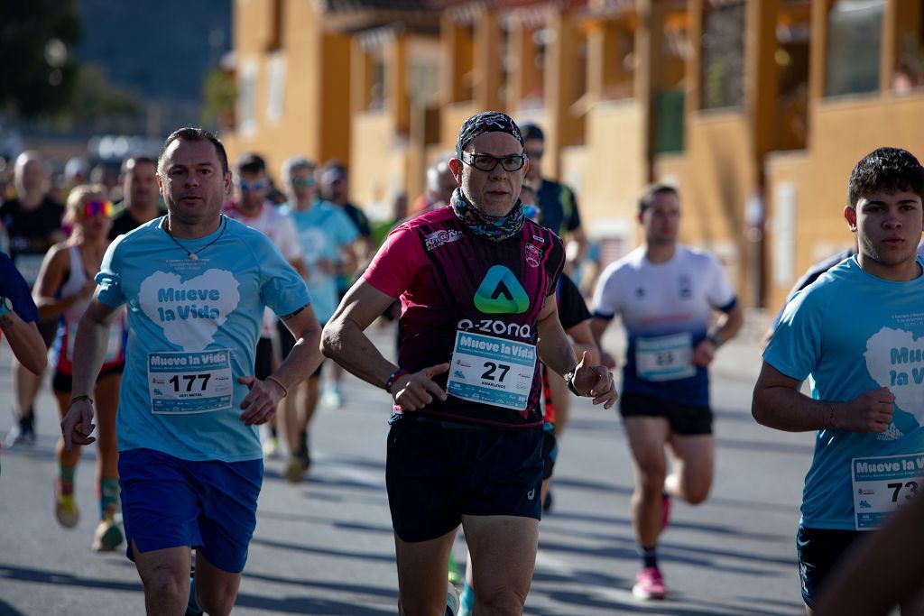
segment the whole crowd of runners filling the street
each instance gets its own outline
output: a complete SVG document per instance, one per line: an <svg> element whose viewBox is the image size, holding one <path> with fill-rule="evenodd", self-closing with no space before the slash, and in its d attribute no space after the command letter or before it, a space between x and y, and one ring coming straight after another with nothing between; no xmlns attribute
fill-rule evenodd
<svg viewBox="0 0 924 616"><path fill-rule="evenodd" d="M399 613L521 614L557 438L570 398L588 397L618 409L634 469L631 592L669 597L659 537L672 501L709 496L709 368L743 311L720 260L678 242L668 184L639 195L642 242L599 272L588 305L577 197L541 175L543 150L540 127L473 115L410 215L376 228L342 163L292 157L276 183L259 153L230 163L199 128L129 157L115 187L69 164L63 205L41 154L24 152L0 206L16 416L5 446L34 442L50 384L57 523L78 525L80 450L96 442L92 550L126 551L150 614L226 614L263 459L285 456L293 484L310 477L311 419L345 404L346 370L384 390ZM924 507L924 168L882 148L847 183L856 248L808 272L774 321L753 415L817 434L794 528L807 613L924 614L920 574L878 592L857 582L865 561L920 570L919 541L902 539L920 535L911 513ZM365 333L383 316L397 321L396 354ZM602 346L617 317L625 356ZM451 558L460 527L465 572Z"/></svg>

